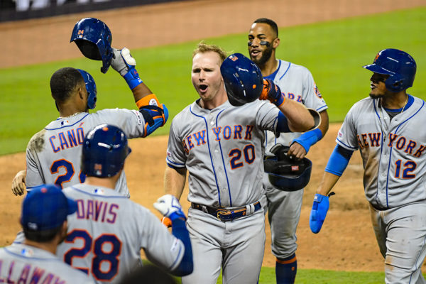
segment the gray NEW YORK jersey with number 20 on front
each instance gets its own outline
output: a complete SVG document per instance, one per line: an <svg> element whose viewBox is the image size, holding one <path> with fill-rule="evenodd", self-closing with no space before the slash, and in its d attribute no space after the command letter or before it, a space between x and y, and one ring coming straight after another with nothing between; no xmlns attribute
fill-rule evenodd
<svg viewBox="0 0 426 284"><path fill-rule="evenodd" d="M166 161L187 168L190 202L240 207L261 197L264 130L275 130L279 109L256 100L208 110L197 102L175 116Z"/></svg>

